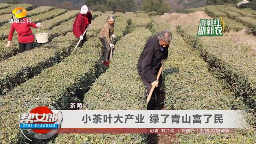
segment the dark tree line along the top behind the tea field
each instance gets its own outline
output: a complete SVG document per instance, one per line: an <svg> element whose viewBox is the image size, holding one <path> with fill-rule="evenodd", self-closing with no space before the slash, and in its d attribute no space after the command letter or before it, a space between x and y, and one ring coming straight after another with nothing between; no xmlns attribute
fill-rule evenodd
<svg viewBox="0 0 256 144"><path fill-rule="evenodd" d="M28 3L34 6L54 6L68 10L79 10L86 4L92 11L114 12L184 12L186 8L196 8L214 4L234 4L242 0L0 0L0 2L18 4ZM256 2L256 0L249 0ZM172 6L172 7L171 7Z"/></svg>

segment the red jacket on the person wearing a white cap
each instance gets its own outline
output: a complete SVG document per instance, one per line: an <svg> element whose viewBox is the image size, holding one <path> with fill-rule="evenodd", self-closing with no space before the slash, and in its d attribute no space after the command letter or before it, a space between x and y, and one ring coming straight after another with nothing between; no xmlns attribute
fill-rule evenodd
<svg viewBox="0 0 256 144"><path fill-rule="evenodd" d="M79 38L79 36L82 36L86 28L89 24L92 22L92 13L88 11L87 16L83 16L81 13L79 13L76 16L76 20L73 24L73 33L74 35Z"/></svg>

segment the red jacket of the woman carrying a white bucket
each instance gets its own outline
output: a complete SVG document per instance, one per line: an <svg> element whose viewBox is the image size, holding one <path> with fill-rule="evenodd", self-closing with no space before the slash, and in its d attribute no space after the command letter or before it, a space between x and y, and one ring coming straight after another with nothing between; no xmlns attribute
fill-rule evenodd
<svg viewBox="0 0 256 144"><path fill-rule="evenodd" d="M18 33L18 42L30 43L34 42L34 35L32 34L31 26L33 28L38 28L35 23L27 21L28 18L23 18L23 22L12 23L11 30L8 36L8 40L12 41L12 36L16 30Z"/></svg>

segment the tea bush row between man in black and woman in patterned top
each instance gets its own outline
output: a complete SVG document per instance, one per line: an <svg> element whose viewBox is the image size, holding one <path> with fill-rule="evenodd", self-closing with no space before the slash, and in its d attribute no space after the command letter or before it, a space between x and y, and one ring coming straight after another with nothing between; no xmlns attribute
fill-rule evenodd
<svg viewBox="0 0 256 144"><path fill-rule="evenodd" d="M151 32L136 28L116 43L110 67L84 95L89 110L142 110L145 88L137 74L137 60ZM140 40L139 43L135 42ZM144 143L142 134L59 134L56 143Z"/></svg>

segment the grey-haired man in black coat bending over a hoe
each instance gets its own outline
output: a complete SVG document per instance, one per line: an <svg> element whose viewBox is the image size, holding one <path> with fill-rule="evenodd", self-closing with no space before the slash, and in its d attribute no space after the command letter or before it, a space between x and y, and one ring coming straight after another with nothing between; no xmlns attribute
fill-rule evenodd
<svg viewBox="0 0 256 144"><path fill-rule="evenodd" d="M161 67L162 62L165 62L168 57L168 48L172 40L172 33L169 30L162 30L156 36L153 36L146 42L144 50L140 54L138 60L138 74L145 84L148 94L152 85L156 85L154 92L148 102L148 110L156 109L156 102L160 95L160 88L162 86L162 74L159 81L156 76Z"/></svg>

